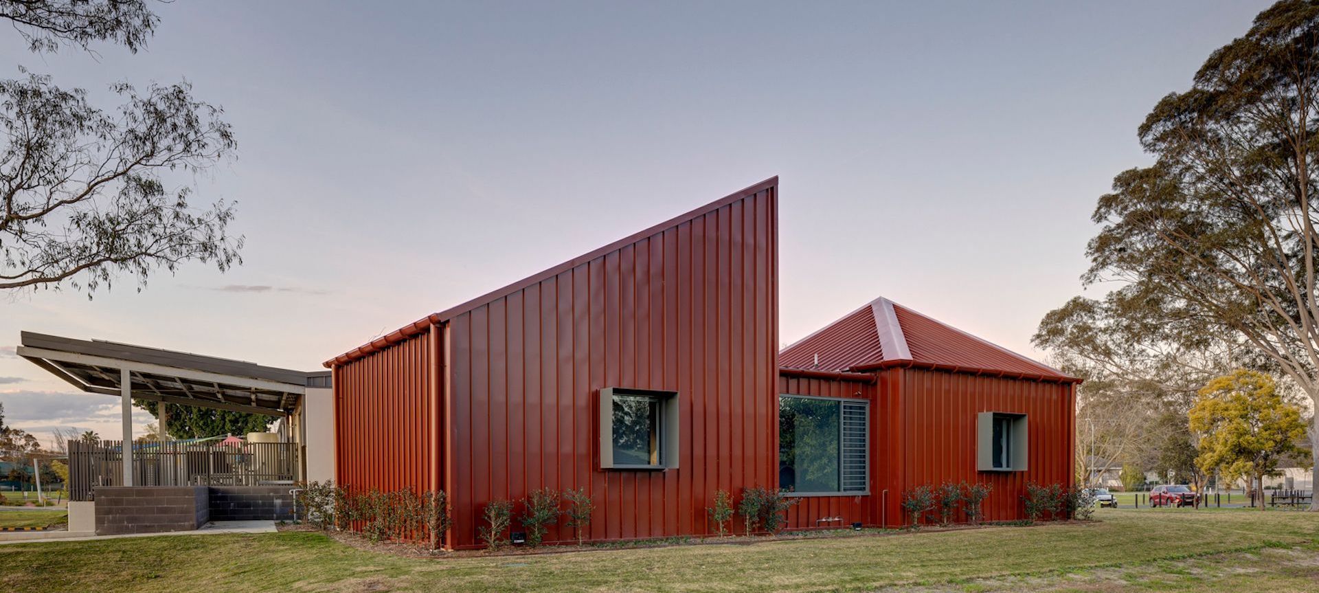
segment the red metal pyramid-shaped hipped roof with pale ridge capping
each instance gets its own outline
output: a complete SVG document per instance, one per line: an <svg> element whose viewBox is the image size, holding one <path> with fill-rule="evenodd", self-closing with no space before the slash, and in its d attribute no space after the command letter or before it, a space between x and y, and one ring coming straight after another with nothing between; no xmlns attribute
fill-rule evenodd
<svg viewBox="0 0 1319 593"><path fill-rule="evenodd" d="M925 366L1079 382L960 329L880 297L778 353L783 368L867 371Z"/></svg>

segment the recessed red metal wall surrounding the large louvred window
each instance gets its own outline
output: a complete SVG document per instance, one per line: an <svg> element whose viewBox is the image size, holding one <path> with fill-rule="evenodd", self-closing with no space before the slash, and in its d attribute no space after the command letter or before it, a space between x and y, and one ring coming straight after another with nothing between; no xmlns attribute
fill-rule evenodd
<svg viewBox="0 0 1319 593"><path fill-rule="evenodd" d="M852 523L867 526L877 524L874 515L877 505L873 499L878 475L874 471L874 460L878 458L877 427L882 423L876 416L878 407L874 405L874 383L814 379L801 376L778 378L778 394L785 395L815 395L822 398L857 398L871 401L871 495L849 497L802 497L798 503L787 511L787 527L793 530L807 530L814 527L848 527ZM777 399L777 398L776 398ZM774 427L774 456L778 458L778 425ZM842 516L843 520L822 522L820 519Z"/></svg>

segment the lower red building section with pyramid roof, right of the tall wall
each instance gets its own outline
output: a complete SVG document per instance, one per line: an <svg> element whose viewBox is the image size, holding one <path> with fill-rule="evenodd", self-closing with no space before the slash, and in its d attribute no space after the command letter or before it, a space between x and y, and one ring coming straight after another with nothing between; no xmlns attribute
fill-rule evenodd
<svg viewBox="0 0 1319 593"><path fill-rule="evenodd" d="M869 412L865 494L803 498L795 526L902 526L904 493L962 482L993 487L985 520L1014 520L1026 483L1074 486L1080 379L888 298L787 346L778 365L781 401L855 398Z"/></svg>

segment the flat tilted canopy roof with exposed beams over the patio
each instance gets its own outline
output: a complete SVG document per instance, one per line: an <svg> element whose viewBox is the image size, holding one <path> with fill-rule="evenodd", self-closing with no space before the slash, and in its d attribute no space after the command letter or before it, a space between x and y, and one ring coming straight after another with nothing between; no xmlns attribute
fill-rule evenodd
<svg viewBox="0 0 1319 593"><path fill-rule="evenodd" d="M303 372L228 358L22 331L20 357L82 391L120 395L123 371L133 399L284 416L328 371Z"/></svg>

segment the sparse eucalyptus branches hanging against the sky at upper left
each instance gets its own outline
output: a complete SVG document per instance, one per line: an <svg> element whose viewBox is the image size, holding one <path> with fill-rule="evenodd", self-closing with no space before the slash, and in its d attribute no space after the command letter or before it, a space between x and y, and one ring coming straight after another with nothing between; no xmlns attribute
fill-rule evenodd
<svg viewBox="0 0 1319 593"><path fill-rule="evenodd" d="M94 42L136 53L158 17L146 0L0 0L0 21L38 54ZM223 111L187 82L109 90L121 103L104 110L21 66L0 79L0 291L70 285L90 297L120 275L141 289L185 262L241 263L233 206L198 209L187 184L233 156Z"/></svg>

